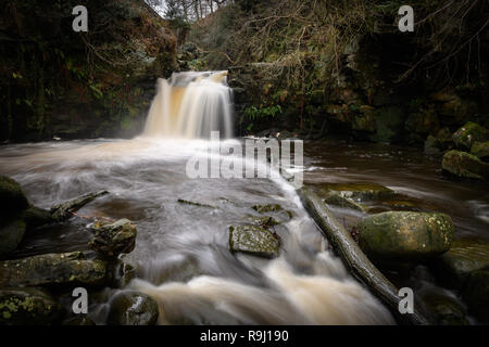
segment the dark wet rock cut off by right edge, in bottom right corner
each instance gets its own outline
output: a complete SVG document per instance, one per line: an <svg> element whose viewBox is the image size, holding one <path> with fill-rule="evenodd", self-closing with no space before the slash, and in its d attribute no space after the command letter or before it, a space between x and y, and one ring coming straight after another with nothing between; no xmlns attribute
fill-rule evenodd
<svg viewBox="0 0 489 347"><path fill-rule="evenodd" d="M489 269L471 273L462 297L472 313L489 322Z"/></svg>

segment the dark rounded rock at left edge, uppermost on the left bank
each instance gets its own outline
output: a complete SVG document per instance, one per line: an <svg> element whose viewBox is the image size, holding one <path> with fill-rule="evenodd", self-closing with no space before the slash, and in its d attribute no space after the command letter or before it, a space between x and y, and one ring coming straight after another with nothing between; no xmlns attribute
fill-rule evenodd
<svg viewBox="0 0 489 347"><path fill-rule="evenodd" d="M0 216L17 214L29 206L21 184L13 179L0 175Z"/></svg>

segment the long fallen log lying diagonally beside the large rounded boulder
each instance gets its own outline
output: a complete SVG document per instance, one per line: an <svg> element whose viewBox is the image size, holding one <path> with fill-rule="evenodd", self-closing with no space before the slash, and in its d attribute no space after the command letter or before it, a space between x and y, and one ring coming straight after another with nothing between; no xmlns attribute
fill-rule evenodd
<svg viewBox="0 0 489 347"><path fill-rule="evenodd" d="M414 308L414 313L401 314L398 288L371 262L348 230L333 216L326 204L309 188L299 190L302 204L312 215L321 230L351 270L353 275L365 283L383 300L398 320L409 324L429 324L428 320Z"/></svg>

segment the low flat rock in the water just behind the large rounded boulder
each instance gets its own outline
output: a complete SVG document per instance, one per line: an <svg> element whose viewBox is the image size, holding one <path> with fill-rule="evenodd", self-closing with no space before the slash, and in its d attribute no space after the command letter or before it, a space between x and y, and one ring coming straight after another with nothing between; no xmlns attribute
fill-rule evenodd
<svg viewBox="0 0 489 347"><path fill-rule="evenodd" d="M341 197L355 201L380 200L394 195L394 191L376 183L325 183L318 188L321 194L335 192Z"/></svg>

